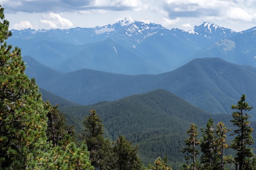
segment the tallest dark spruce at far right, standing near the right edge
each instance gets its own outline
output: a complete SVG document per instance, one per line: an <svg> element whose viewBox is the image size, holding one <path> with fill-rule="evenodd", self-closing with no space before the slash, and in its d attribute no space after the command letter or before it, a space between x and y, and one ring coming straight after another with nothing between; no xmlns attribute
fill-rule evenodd
<svg viewBox="0 0 256 170"><path fill-rule="evenodd" d="M238 104L232 105L232 109L236 109L236 112L233 112L232 116L234 119L231 120L238 129L234 130L232 135L236 135L232 141L231 148L236 150L236 167L239 167L239 170L244 170L245 162L249 162L254 153L252 152L253 148L249 146L254 143L252 139L253 128L250 125L248 120L251 116L248 115L247 111L252 110L252 106L249 106L245 102L245 94L242 95L241 99L238 101Z"/></svg>

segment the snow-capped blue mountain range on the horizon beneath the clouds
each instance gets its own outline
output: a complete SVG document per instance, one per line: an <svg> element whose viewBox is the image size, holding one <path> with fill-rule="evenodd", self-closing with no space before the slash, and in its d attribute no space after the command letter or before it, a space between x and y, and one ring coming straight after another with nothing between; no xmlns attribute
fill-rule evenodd
<svg viewBox="0 0 256 170"><path fill-rule="evenodd" d="M204 22L191 31L124 18L94 28L11 30L23 55L63 73L83 68L127 75L173 71L199 57L256 66L255 32Z"/></svg>

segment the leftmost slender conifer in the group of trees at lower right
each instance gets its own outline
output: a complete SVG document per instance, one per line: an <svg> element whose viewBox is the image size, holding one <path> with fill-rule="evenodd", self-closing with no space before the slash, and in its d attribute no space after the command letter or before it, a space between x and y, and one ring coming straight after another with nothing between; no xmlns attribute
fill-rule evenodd
<svg viewBox="0 0 256 170"><path fill-rule="evenodd" d="M186 131L186 133L189 135L189 138L186 139L184 142L187 148L182 149L183 153L186 153L185 159L188 163L189 159L192 159L192 168L193 170L197 170L197 161L196 156L199 154L199 150L196 148L200 144L200 141L198 140L198 128L195 124L191 123L190 128Z"/></svg>

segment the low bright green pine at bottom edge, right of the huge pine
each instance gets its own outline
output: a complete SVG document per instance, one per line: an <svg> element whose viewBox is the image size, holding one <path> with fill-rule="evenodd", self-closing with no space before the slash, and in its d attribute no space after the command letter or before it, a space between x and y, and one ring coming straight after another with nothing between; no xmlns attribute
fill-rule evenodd
<svg viewBox="0 0 256 170"><path fill-rule="evenodd" d="M94 170L89 159L86 144L77 146L70 135L58 142L58 146L49 148L36 157L34 169L40 170Z"/></svg>

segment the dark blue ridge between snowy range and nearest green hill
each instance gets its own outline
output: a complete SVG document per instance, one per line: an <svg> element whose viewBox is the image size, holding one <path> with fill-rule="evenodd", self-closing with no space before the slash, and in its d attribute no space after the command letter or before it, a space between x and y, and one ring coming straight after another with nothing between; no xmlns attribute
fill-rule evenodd
<svg viewBox="0 0 256 170"><path fill-rule="evenodd" d="M220 58L195 59L175 71L159 75L123 75L82 69L54 72L56 76L53 76L51 71L40 71L47 67L33 65L33 68L38 69L35 78L41 88L83 105L159 88L211 113L231 113L231 105L236 104L243 93L250 105L256 104L256 68L231 64Z"/></svg>

